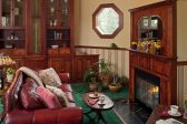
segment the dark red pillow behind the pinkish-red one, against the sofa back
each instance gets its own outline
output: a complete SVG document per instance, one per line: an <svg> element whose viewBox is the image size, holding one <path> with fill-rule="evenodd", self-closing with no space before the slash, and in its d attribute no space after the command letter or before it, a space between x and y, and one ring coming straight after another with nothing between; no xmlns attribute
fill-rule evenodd
<svg viewBox="0 0 187 124"><path fill-rule="evenodd" d="M36 94L37 84L31 78L26 79L21 90L21 103L24 108L45 107L39 96Z"/></svg>

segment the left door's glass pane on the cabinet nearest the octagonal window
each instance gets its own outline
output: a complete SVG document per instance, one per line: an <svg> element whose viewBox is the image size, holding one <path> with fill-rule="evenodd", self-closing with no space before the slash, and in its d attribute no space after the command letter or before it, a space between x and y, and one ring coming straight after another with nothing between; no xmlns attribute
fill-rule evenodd
<svg viewBox="0 0 187 124"><path fill-rule="evenodd" d="M49 27L57 27L58 10L57 0L49 0Z"/></svg>

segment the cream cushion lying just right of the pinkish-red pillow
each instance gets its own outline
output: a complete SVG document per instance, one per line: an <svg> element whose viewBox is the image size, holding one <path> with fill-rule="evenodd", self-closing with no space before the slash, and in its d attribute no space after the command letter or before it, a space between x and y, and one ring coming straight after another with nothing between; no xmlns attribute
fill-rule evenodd
<svg viewBox="0 0 187 124"><path fill-rule="evenodd" d="M58 97L61 106L69 105L68 99L62 90L55 87L55 86L50 86L50 85L46 85L46 87L50 90Z"/></svg>

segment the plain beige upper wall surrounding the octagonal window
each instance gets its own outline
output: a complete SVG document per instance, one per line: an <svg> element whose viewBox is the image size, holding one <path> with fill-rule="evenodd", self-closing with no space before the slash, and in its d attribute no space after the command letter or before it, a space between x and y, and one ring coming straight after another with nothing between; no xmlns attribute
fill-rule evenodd
<svg viewBox="0 0 187 124"><path fill-rule="evenodd" d="M79 33L76 37L75 44L79 45L95 45L95 46L109 46L116 43L120 48L129 48L130 41L130 13L129 9L158 2L161 0L75 0L76 3L76 31ZM100 39L92 30L92 13L101 3L115 3L124 12L124 29L115 39ZM77 7L79 6L79 7ZM78 12L79 11L79 12Z"/></svg>

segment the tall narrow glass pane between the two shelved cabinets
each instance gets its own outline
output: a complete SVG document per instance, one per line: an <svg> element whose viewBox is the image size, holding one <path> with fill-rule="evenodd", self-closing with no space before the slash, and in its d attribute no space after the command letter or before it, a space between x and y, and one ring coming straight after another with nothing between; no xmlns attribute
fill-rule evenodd
<svg viewBox="0 0 187 124"><path fill-rule="evenodd" d="M40 0L32 0L31 41L32 52L40 53Z"/></svg>

